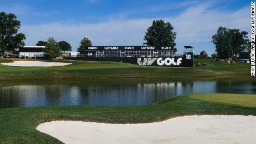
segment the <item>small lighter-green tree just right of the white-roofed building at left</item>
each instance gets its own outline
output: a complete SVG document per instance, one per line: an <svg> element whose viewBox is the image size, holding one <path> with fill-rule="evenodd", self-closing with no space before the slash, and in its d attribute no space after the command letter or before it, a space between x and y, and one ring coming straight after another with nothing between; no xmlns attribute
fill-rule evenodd
<svg viewBox="0 0 256 144"><path fill-rule="evenodd" d="M52 58L60 56L61 47L53 37L47 39L45 52Z"/></svg>

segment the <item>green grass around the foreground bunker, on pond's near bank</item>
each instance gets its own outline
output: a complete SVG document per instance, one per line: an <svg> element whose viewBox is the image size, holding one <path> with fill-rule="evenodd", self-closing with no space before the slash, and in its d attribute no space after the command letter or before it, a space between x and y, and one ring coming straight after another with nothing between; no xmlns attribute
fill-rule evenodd
<svg viewBox="0 0 256 144"><path fill-rule="evenodd" d="M38 124L55 120L145 123L188 115L256 116L255 97L255 95L212 93L179 96L144 106L53 106L0 109L0 142L60 143L56 138L36 131Z"/></svg>

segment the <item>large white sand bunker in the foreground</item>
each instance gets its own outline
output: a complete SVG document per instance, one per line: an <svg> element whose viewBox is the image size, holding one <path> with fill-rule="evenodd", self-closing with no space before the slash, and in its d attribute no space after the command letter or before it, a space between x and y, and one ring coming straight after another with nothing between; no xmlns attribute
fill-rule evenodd
<svg viewBox="0 0 256 144"><path fill-rule="evenodd" d="M256 116L185 116L126 125L53 121L37 130L64 143L255 143Z"/></svg>

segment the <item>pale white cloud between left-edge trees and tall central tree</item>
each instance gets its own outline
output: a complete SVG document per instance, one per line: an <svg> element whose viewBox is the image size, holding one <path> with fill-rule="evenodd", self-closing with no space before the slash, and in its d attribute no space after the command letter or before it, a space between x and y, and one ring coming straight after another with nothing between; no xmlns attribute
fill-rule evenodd
<svg viewBox="0 0 256 144"><path fill-rule="evenodd" d="M144 33L151 24L151 19L130 21L111 21L97 24L63 24L51 23L24 25L21 32L26 33L26 44L33 45L47 37L58 41L70 42L73 48L78 47L83 37L88 37L95 45L140 45Z"/></svg>

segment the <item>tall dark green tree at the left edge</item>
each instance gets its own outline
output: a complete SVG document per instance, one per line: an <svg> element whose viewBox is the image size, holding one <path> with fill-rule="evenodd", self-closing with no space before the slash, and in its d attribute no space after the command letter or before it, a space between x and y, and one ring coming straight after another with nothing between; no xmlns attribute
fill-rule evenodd
<svg viewBox="0 0 256 144"><path fill-rule="evenodd" d="M13 52L15 48L25 45L25 34L18 33L21 23L12 13L0 13L0 50Z"/></svg>

